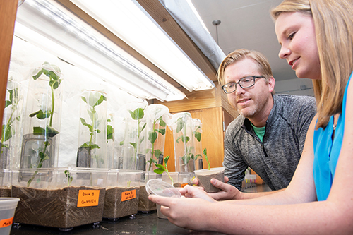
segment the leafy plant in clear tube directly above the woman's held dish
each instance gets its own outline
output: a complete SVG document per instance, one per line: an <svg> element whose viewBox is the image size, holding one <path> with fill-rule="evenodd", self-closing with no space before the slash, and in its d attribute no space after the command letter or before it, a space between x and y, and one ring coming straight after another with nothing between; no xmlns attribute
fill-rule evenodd
<svg viewBox="0 0 353 235"><path fill-rule="evenodd" d="M159 124L160 126L164 128L155 128L155 125ZM161 133L162 135L165 135L165 127L167 126L167 123L165 123L162 119L162 116L160 116L159 119L154 119L153 120L153 129L152 131L148 132L148 140L150 140L150 143L152 144L152 148L148 149L148 151L151 151L151 158L148 161L150 166L148 167L148 170L150 171L152 164L156 164L158 162L158 158L162 154L161 150L155 149L155 141L158 138L158 133Z"/></svg>

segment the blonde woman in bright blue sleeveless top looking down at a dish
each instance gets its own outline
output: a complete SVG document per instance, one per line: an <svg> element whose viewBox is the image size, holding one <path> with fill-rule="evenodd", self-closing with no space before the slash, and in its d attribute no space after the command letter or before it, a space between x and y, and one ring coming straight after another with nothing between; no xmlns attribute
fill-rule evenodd
<svg viewBox="0 0 353 235"><path fill-rule="evenodd" d="M170 222L189 229L353 234L352 0L285 0L271 13L279 56L299 78L313 79L318 108L289 186L252 200L217 202L195 187L182 189L184 198L150 199L164 205Z"/></svg>

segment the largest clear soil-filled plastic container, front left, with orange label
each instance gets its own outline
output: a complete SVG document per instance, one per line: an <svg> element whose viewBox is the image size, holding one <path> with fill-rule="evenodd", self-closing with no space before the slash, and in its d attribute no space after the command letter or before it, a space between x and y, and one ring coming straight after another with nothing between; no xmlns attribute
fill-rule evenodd
<svg viewBox="0 0 353 235"><path fill-rule="evenodd" d="M13 171L13 221L68 231L102 221L107 169L41 168ZM29 186L30 182L30 186Z"/></svg>

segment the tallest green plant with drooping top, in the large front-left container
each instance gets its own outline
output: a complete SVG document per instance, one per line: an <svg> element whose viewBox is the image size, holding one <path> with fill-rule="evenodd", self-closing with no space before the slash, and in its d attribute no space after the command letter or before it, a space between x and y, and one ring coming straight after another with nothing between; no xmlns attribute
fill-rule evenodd
<svg viewBox="0 0 353 235"><path fill-rule="evenodd" d="M30 118L36 117L37 119L43 120L43 119L48 119L49 118L49 125L46 126L46 128L42 128L40 126L34 126L33 127L33 134L34 135L44 135L45 140L44 140L44 148L42 151L39 152L39 157L40 157L40 162L37 164L37 168L42 168L43 162L45 160L50 159L49 155L47 154L47 147L50 145L49 140L50 138L53 138L55 135L59 134L59 131L56 131L52 127L52 122L53 122L53 116L54 116L54 107L55 107L55 97L54 97L54 90L59 88L59 85L61 83L61 78L58 76L55 72L61 72L60 68L58 66L55 66L53 64L49 64L48 62L44 62L43 65L49 65L54 70L47 70L45 68L42 68L35 76L32 76L34 80L37 80L40 78L42 74L46 75L49 78L49 87L51 89L52 93L52 109L47 109L47 110L38 110L37 112L34 112L30 114ZM37 174L37 171L35 171L35 174ZM35 175L34 174L34 175ZM28 182L27 186L30 186L30 183L32 180L35 178L35 176L32 176Z"/></svg>

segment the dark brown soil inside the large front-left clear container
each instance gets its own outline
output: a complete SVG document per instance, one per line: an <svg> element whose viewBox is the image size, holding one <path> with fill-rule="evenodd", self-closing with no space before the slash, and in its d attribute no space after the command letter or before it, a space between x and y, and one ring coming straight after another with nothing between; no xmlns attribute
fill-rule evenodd
<svg viewBox="0 0 353 235"><path fill-rule="evenodd" d="M78 195L85 190L99 191L98 205L78 207ZM13 219L16 223L68 230L102 221L105 188L68 186L40 189L12 186L12 193L13 197L20 198Z"/></svg>

